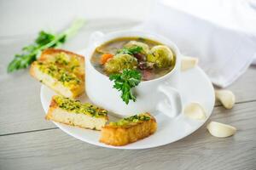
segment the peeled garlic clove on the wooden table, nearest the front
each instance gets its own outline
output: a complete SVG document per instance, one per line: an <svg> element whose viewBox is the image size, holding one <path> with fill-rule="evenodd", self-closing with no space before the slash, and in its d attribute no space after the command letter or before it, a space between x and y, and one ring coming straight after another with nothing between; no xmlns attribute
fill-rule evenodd
<svg viewBox="0 0 256 170"><path fill-rule="evenodd" d="M220 122L210 122L207 125L207 129L212 136L218 138L225 138L232 136L236 133L236 127L232 127L230 125L220 123Z"/></svg>

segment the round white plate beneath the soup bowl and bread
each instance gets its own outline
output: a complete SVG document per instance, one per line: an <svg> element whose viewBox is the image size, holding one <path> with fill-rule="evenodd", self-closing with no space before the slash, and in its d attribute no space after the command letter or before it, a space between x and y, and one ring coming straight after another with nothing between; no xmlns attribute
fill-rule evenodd
<svg viewBox="0 0 256 170"><path fill-rule="evenodd" d="M207 111L208 119L208 117L212 114L215 96L212 82L210 82L207 75L201 70L201 68L195 67L189 71L182 72L180 80L179 91L182 96L183 105L186 105L189 102L199 102ZM48 111L50 99L54 94L55 92L46 86L43 85L41 87L41 102L45 112ZM80 99L83 102L90 102L85 95L80 97ZM185 117L183 114L180 114L175 119L170 119L167 116L157 112L152 114L155 116L158 123L157 131L146 139L119 147L100 143L98 141L100 138L100 132L79 127L70 127L57 122L54 123L65 133L89 144L96 144L98 146L107 148L133 150L153 148L164 144L170 144L178 139L183 139L190 133L195 132L195 130L197 130L207 121L207 119L204 121L191 120ZM110 120L111 118L112 117L110 117Z"/></svg>

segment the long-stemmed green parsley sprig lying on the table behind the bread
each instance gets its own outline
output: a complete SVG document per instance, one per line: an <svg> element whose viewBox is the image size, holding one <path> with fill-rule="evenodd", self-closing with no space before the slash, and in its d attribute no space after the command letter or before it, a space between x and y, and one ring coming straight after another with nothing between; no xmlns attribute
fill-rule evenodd
<svg viewBox="0 0 256 170"><path fill-rule="evenodd" d="M7 71L13 72L25 69L37 59L37 56L40 55L44 49L60 47L61 44L67 41L68 37L72 37L83 25L84 20L75 20L72 26L60 34L51 34L46 31L40 31L38 38L34 43L22 48L21 54L15 54L15 59L9 63Z"/></svg>

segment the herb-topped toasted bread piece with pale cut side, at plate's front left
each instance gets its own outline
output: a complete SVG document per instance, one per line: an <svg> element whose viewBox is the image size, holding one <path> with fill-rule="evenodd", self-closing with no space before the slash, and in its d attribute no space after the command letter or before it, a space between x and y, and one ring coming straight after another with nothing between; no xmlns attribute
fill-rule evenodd
<svg viewBox="0 0 256 170"><path fill-rule="evenodd" d="M52 97L45 118L75 127L101 130L108 122L108 111L89 103L82 104L78 100L56 95Z"/></svg>

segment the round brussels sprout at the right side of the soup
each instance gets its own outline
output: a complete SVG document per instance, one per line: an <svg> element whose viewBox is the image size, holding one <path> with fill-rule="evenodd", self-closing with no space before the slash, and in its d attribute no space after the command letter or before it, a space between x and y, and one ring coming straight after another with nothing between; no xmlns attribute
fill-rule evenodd
<svg viewBox="0 0 256 170"><path fill-rule="evenodd" d="M158 68L166 68L172 65L173 54L170 48L157 45L151 48L147 60L154 63Z"/></svg>

